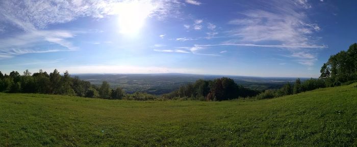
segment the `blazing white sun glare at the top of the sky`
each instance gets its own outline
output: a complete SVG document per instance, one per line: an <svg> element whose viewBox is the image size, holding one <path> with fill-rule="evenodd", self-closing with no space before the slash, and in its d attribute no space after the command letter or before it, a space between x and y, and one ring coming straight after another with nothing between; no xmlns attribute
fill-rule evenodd
<svg viewBox="0 0 357 147"><path fill-rule="evenodd" d="M116 7L121 34L136 35L145 24L145 19L155 10L149 1L123 2Z"/></svg>

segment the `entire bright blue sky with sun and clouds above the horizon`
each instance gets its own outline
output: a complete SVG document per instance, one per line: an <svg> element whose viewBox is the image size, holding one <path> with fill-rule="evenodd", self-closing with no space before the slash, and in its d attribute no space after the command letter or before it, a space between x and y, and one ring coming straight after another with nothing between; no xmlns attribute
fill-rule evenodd
<svg viewBox="0 0 357 147"><path fill-rule="evenodd" d="M0 71L318 77L357 1L1 1Z"/></svg>

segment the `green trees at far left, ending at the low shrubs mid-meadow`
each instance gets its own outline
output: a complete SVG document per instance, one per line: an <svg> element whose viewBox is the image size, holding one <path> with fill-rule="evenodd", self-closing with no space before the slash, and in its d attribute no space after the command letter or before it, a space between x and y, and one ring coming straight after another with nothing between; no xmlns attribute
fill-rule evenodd
<svg viewBox="0 0 357 147"><path fill-rule="evenodd" d="M110 89L104 81L99 87L79 77L70 77L68 71L63 76L55 69L52 73L39 72L32 74L29 70L20 75L17 71L9 75L0 71L0 92L6 93L39 93L69 95L88 98L122 99L124 91L121 87Z"/></svg>

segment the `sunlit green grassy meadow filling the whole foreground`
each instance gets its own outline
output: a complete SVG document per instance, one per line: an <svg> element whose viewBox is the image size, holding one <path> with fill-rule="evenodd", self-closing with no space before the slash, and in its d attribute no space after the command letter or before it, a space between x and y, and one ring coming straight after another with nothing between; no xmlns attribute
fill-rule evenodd
<svg viewBox="0 0 357 147"><path fill-rule="evenodd" d="M223 102L0 93L0 146L357 146L356 85Z"/></svg>

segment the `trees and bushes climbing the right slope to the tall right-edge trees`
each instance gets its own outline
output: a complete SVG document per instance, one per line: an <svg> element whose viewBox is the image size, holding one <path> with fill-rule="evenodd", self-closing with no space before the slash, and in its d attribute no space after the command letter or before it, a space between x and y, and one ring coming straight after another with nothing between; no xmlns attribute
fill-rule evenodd
<svg viewBox="0 0 357 147"><path fill-rule="evenodd" d="M298 94L324 87L346 85L357 81L357 43L349 46L347 51L331 55L320 70L320 77L304 82L296 79L294 84L287 83L281 89L266 90L257 99L269 99L285 95Z"/></svg>

